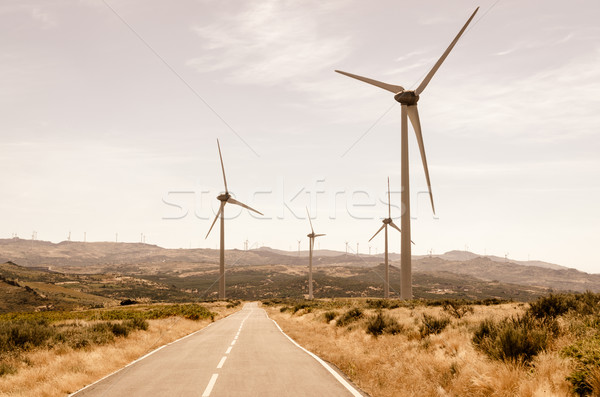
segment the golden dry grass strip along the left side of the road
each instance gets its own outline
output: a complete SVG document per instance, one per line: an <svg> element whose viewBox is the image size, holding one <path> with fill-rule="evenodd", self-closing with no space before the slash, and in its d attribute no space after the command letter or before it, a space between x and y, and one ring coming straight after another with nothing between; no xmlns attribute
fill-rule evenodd
<svg viewBox="0 0 600 397"><path fill-rule="evenodd" d="M226 308L226 303L206 304L218 313L215 319L239 309ZM147 331L132 332L114 343L74 350L60 346L25 354L15 374L0 377L0 396L64 396L88 385L150 351L177 340L208 324L210 319L192 321L181 317L149 320Z"/></svg>

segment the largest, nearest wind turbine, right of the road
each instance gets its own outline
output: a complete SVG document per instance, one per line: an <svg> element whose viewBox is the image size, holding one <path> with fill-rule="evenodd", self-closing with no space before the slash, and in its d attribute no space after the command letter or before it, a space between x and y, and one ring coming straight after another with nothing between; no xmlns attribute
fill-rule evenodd
<svg viewBox="0 0 600 397"><path fill-rule="evenodd" d="M412 268L411 268L411 247L410 247L410 190L409 190L409 178L408 178L408 119L412 123L415 135L417 136L417 142L419 143L419 150L421 152L421 159L423 161L423 168L425 169L425 178L427 180L427 188L429 189L429 198L431 200L431 208L435 214L435 207L433 205L433 194L431 193L431 182L429 180L429 170L427 169L427 158L425 157L425 145L423 143L423 135L421 134L421 121L419 120L419 111L417 109L417 102L419 101L419 95L425 90L425 87L429 84L434 74L440 68L450 51L454 48L458 39L467 26L473 20L473 17L479 10L479 7L475 9L471 17L467 20L465 25L462 27L460 32L456 35L450 46L442 54L440 59L433 65L433 68L425 76L421 84L416 90L406 90L404 87L399 85L387 84L381 81L369 79L367 77L358 76L352 73L342 72L336 70L336 72L346 75L348 77L355 78L368 84L372 84L384 90L390 91L394 94L394 99L400 102L402 105L402 136L401 136L401 170L402 170L402 206L404 212L401 217L402 230L402 243L401 243L401 257L400 265L402 268L402 284L401 284L401 298L412 299Z"/></svg>

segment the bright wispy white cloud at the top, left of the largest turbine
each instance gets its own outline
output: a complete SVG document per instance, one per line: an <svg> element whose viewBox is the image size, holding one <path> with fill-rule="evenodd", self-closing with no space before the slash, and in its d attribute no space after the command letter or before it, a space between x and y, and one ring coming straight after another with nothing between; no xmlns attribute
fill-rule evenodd
<svg viewBox="0 0 600 397"><path fill-rule="evenodd" d="M285 83L300 89L295 82L330 68L349 53L348 38L319 35L312 15L318 7L271 1L195 26L203 53L187 65L200 73L223 71L233 84Z"/></svg>

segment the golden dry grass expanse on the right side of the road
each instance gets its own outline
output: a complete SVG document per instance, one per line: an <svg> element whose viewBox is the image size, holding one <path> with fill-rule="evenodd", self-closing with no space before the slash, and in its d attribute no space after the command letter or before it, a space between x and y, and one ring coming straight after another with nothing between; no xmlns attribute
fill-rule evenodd
<svg viewBox="0 0 600 397"><path fill-rule="evenodd" d="M570 362L557 353L542 353L525 367L492 361L473 347L476 324L484 318L521 314L525 308L515 303L476 306L474 313L452 319L440 334L425 338L419 335L422 314L442 316L442 308L386 311L404 331L377 338L368 335L360 323L349 329L336 327L335 321L326 324L322 310L296 315L277 308L267 310L290 337L338 366L373 397L571 395L571 385L565 380Z"/></svg>

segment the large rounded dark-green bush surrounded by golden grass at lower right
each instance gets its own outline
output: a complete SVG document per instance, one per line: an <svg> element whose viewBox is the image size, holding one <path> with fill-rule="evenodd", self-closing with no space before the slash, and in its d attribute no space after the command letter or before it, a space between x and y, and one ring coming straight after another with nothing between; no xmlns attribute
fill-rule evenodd
<svg viewBox="0 0 600 397"><path fill-rule="evenodd" d="M484 320L475 331L473 344L490 358L527 363L546 349L552 336L546 323L524 315L498 323Z"/></svg>

